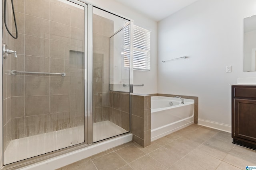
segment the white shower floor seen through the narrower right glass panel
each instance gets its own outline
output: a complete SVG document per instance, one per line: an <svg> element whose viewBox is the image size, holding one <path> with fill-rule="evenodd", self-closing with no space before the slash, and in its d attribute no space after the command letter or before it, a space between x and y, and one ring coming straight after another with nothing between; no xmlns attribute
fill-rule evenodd
<svg viewBox="0 0 256 170"><path fill-rule="evenodd" d="M93 123L93 142L101 141L103 139L108 139L110 137L114 137L123 133L126 133L125 129L112 123L111 121L100 121Z"/></svg>

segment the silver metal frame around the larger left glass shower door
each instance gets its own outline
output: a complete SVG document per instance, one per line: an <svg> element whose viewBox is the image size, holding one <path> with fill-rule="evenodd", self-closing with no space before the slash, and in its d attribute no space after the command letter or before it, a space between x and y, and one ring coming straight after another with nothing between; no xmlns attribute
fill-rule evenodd
<svg viewBox="0 0 256 170"><path fill-rule="evenodd" d="M87 70L88 70L88 4L86 2L82 2L80 0L68 0L74 4L78 4L80 6L84 6L84 143L80 143L78 145L70 146L68 148L62 148L60 150L54 150L52 152L48 152L42 155L38 155L32 158L28 158L26 160L20 160L18 162L14 162L11 164L4 165L3 164L3 156L4 156L4 148L3 148L3 88L0 89L0 150L2 151L0 153L0 169L8 168L8 169L16 169L16 168L21 168L24 166L27 166L29 164L33 164L36 162L40 162L42 160L46 160L49 158L54 158L56 156L60 156L62 154L66 154L68 152L78 150L81 148L84 148L88 145L88 76L87 76ZM2 3L0 3L0 9L2 9ZM0 14L0 22L3 22L2 20L2 12ZM0 34L0 39L2 40L0 42L1 47L3 46L3 27L0 28L2 31L2 34ZM3 49L1 48L2 54L3 54ZM3 84L3 59L0 60L0 84Z"/></svg>

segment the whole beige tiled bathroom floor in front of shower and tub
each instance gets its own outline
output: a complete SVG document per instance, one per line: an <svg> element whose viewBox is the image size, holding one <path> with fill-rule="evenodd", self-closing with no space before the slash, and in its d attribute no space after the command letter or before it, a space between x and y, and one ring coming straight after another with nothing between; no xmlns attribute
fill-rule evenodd
<svg viewBox="0 0 256 170"><path fill-rule="evenodd" d="M230 133L190 125L143 148L134 142L58 170L245 170L256 151L232 144Z"/></svg>

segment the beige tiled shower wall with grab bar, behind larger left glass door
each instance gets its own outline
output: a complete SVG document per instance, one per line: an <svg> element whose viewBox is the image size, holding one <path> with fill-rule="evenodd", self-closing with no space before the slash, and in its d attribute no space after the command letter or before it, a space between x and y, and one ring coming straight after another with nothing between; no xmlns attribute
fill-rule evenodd
<svg viewBox="0 0 256 170"><path fill-rule="evenodd" d="M84 10L58 0L14 0L14 9L18 39L5 28L3 38L18 55L4 60L5 148L11 139L84 124Z"/></svg>

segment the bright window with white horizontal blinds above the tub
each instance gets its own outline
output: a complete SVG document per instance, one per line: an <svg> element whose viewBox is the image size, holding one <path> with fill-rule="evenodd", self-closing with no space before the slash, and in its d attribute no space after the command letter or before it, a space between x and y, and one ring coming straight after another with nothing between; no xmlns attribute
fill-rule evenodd
<svg viewBox="0 0 256 170"><path fill-rule="evenodd" d="M130 68L129 27L124 29L124 68ZM150 70L150 31L134 25L133 69Z"/></svg>

